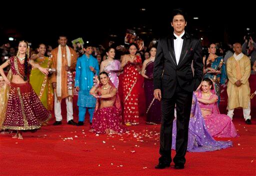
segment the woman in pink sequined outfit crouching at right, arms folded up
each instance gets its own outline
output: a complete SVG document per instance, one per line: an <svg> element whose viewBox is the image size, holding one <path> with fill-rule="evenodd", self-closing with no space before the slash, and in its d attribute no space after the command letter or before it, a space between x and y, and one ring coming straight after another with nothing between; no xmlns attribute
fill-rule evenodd
<svg viewBox="0 0 256 176"><path fill-rule="evenodd" d="M204 78L200 89L195 92L208 132L213 137L238 136L230 117L220 114L217 107L218 96L214 92L212 81Z"/></svg>

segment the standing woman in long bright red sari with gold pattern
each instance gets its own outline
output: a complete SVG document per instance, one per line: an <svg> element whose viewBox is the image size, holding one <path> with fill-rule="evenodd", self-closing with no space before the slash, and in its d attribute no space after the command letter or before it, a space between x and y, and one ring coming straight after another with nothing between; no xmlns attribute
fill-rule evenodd
<svg viewBox="0 0 256 176"><path fill-rule="evenodd" d="M136 56L135 43L129 45L129 54L122 58L123 67L123 120L126 125L138 124L138 89L135 84L141 68L141 58Z"/></svg>

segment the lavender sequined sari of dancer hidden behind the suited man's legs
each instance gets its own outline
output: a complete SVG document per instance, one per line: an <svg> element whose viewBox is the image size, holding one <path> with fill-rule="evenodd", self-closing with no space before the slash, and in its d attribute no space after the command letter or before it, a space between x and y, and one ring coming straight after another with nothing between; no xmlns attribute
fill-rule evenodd
<svg viewBox="0 0 256 176"><path fill-rule="evenodd" d="M175 149L176 141L176 119L173 120L172 144L171 148ZM231 141L216 141L208 132L205 121L201 114L198 100L193 94L192 107L188 126L187 151L203 152L213 151L232 146Z"/></svg>

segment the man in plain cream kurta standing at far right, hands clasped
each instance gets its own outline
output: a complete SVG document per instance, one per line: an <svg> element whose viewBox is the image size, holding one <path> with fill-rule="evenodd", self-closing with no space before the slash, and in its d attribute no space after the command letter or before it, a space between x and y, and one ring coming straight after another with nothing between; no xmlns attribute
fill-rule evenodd
<svg viewBox="0 0 256 176"><path fill-rule="evenodd" d="M226 61L227 83L227 115L232 119L236 107L242 107L243 117L247 124L250 121L250 59L241 52L241 44L234 43L234 54Z"/></svg>

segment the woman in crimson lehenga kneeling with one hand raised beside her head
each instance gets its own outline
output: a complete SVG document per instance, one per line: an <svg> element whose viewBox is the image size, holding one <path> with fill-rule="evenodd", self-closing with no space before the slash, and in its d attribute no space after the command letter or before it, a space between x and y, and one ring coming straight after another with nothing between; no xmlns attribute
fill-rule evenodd
<svg viewBox="0 0 256 176"><path fill-rule="evenodd" d="M95 76L96 84L90 89L90 94L97 98L92 117L91 131L96 133L121 133L126 129L121 127L121 105L117 88L109 80L106 72Z"/></svg>

